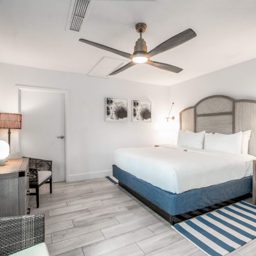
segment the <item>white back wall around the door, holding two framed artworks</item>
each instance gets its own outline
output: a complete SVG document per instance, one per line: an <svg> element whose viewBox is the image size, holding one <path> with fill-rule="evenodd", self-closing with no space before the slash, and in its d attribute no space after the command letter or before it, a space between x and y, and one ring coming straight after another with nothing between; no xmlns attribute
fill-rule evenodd
<svg viewBox="0 0 256 256"><path fill-rule="evenodd" d="M104 171L112 169L115 148L167 141L162 125L169 108L168 87L0 63L0 112L17 112L15 84L69 90L70 180L109 175ZM128 99L127 123L104 121L108 96ZM152 101L152 123L131 122L132 99ZM17 134L12 130L12 151L18 148ZM7 138L7 131L0 131L0 139Z"/></svg>

